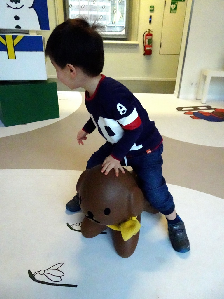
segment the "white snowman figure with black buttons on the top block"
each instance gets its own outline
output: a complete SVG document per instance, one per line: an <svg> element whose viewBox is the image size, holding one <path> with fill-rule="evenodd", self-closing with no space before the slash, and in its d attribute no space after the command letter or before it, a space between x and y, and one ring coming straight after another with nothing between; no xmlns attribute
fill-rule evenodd
<svg viewBox="0 0 224 299"><path fill-rule="evenodd" d="M0 0L0 28L40 30L34 0Z"/></svg>

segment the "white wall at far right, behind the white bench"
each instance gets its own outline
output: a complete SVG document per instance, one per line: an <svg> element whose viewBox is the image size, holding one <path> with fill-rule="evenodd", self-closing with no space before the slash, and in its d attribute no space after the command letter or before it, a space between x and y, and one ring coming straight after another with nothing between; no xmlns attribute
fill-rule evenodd
<svg viewBox="0 0 224 299"><path fill-rule="evenodd" d="M224 1L194 0L180 98L195 99L203 68L224 69ZM186 28L185 28L186 29ZM178 74L181 70L181 61ZM178 92L177 82L175 93ZM224 99L224 78L212 78L208 99Z"/></svg>

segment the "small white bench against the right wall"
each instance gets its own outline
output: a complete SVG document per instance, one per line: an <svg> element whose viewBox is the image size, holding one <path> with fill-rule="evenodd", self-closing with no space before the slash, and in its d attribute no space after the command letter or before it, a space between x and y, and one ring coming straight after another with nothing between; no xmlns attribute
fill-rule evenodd
<svg viewBox="0 0 224 299"><path fill-rule="evenodd" d="M206 103L211 77L224 77L224 71L223 70L215 71L215 70L208 70L208 69L204 69L201 71L199 86L197 91L197 100L201 100L202 104Z"/></svg>

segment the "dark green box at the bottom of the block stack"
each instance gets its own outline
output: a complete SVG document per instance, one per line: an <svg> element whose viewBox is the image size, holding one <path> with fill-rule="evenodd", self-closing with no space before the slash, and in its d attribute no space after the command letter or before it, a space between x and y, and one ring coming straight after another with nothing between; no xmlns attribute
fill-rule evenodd
<svg viewBox="0 0 224 299"><path fill-rule="evenodd" d="M0 82L0 120L5 126L58 117L56 82Z"/></svg>

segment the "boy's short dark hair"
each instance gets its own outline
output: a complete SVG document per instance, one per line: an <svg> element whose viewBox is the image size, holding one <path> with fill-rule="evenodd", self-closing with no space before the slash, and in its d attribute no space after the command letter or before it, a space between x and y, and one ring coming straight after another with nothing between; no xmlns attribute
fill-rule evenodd
<svg viewBox="0 0 224 299"><path fill-rule="evenodd" d="M85 19L68 19L58 25L47 40L45 55L64 68L67 63L82 68L85 74L97 76L104 65L103 39Z"/></svg>

